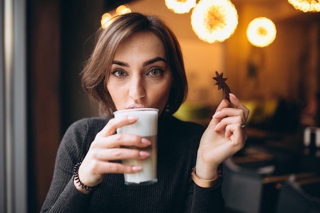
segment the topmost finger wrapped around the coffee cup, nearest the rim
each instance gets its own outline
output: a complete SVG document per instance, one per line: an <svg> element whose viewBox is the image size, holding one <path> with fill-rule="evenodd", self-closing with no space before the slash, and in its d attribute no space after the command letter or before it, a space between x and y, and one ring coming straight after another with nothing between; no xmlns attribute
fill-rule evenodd
<svg viewBox="0 0 320 213"><path fill-rule="evenodd" d="M121 116L110 119L104 128L98 133L101 136L109 136L117 131L117 128L135 123L139 118L135 116Z"/></svg>

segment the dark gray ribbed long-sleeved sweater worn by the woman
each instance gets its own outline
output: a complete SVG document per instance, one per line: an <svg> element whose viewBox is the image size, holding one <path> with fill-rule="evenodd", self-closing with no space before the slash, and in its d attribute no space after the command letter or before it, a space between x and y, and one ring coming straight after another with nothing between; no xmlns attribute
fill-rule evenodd
<svg viewBox="0 0 320 213"><path fill-rule="evenodd" d="M96 191L85 195L76 190L74 166L107 122L100 117L82 119L68 128L41 212L224 212L222 178L212 188L201 188L191 180L205 128L173 116L159 117L157 183L127 186L123 174L106 174Z"/></svg>

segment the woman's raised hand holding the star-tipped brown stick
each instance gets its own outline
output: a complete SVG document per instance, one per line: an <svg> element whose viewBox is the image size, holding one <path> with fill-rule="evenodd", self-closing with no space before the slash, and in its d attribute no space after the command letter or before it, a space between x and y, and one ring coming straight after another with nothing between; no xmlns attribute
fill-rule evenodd
<svg viewBox="0 0 320 213"><path fill-rule="evenodd" d="M224 99L218 106L208 128L204 131L197 154L196 174L210 180L218 176L219 165L244 147L245 129L249 110L230 93L230 101Z"/></svg>

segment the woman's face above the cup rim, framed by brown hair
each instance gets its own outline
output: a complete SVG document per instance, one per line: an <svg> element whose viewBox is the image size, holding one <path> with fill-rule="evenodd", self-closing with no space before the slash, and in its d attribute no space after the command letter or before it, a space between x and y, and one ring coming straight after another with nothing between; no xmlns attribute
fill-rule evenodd
<svg viewBox="0 0 320 213"><path fill-rule="evenodd" d="M107 89L117 110L150 107L161 114L172 81L161 40L150 32L136 32L118 46Z"/></svg>

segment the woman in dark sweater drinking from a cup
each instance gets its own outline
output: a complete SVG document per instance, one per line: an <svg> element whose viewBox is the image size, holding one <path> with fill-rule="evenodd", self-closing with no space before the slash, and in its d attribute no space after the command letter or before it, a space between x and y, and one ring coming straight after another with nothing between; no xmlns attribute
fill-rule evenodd
<svg viewBox="0 0 320 213"><path fill-rule="evenodd" d="M236 108L222 100L207 129L172 116L188 87L179 44L164 22L140 13L117 17L101 30L82 83L106 116L66 131L41 212L224 212L219 165L244 146L249 111L230 94ZM127 186L123 174L142 168L121 160L149 153L120 147L150 141L115 134L137 118L115 119L112 112L139 107L159 109L158 182Z"/></svg>

